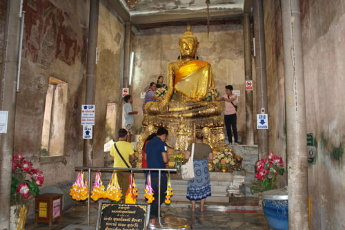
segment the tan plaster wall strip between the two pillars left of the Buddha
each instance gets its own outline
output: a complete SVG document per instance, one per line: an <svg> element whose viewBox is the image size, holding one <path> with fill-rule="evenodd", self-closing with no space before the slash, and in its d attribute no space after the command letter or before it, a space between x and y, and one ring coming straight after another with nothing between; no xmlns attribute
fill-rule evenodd
<svg viewBox="0 0 345 230"><path fill-rule="evenodd" d="M94 166L103 166L103 144L106 138L106 110L108 102L121 105L121 60L124 46L124 26L107 3L101 1L98 27L98 64L96 80L97 114L94 126ZM117 129L121 113L117 114ZM117 131L115 131L117 133ZM116 141L116 140L114 140Z"/></svg>

